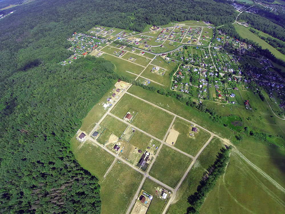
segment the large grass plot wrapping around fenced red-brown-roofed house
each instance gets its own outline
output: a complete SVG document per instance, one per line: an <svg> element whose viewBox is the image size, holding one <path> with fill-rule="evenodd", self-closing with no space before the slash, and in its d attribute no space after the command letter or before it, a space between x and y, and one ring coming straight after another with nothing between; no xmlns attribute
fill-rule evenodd
<svg viewBox="0 0 285 214"><path fill-rule="evenodd" d="M173 118L171 114L128 94L121 98L111 112L117 117L123 118L130 108L139 112L132 121L132 125L159 139L164 137Z"/></svg>

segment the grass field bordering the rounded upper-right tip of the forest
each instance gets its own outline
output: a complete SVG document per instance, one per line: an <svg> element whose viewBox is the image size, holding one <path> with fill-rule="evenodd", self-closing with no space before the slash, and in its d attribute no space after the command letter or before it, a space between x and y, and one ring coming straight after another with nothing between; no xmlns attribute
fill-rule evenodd
<svg viewBox="0 0 285 214"><path fill-rule="evenodd" d="M117 56L111 56L108 54L104 54L103 58L106 60L110 60L113 64L115 64L116 66L116 72L120 75L124 75L126 77L129 78L135 78L136 76L134 74L130 74L129 72L135 73L135 74L139 74L142 72L142 70L144 69L143 66L139 66L137 64L132 63L131 61L128 62L126 60L121 60L119 57Z"/></svg>

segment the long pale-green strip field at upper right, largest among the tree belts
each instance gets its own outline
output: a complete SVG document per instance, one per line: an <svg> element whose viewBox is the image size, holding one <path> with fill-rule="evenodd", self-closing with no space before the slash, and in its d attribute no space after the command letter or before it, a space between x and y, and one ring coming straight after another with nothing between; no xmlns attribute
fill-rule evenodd
<svg viewBox="0 0 285 214"><path fill-rule="evenodd" d="M276 56L276 58L285 61L285 55L284 54L280 53L279 51L277 51L276 48L272 47L266 41L259 38L256 34L249 31L248 28L246 28L242 25L234 25L234 26L235 26L237 33L239 33L239 35L241 35L241 37L250 39L250 40L258 43L263 49L267 48L274 56Z"/></svg>

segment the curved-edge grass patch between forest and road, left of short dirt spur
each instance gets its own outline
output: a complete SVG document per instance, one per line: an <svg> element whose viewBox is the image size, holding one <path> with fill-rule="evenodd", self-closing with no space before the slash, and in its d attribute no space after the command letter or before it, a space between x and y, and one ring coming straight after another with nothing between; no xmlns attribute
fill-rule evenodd
<svg viewBox="0 0 285 214"><path fill-rule="evenodd" d="M78 143L79 141L75 137L70 140L70 146L76 160L80 166L102 181L107 169L115 159L114 156L91 141L86 141L82 147L77 149Z"/></svg>

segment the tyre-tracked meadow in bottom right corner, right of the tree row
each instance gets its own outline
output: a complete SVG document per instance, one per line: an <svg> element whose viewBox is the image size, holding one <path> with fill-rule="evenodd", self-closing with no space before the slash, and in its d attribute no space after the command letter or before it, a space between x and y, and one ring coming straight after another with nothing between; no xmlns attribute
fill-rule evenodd
<svg viewBox="0 0 285 214"><path fill-rule="evenodd" d="M284 213L284 193L234 152L200 213Z"/></svg>

